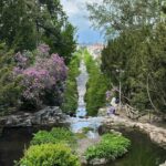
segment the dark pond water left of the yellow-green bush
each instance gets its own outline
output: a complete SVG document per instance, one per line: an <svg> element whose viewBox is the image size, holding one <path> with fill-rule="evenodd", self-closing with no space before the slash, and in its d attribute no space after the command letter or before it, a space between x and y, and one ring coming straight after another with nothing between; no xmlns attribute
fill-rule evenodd
<svg viewBox="0 0 166 166"><path fill-rule="evenodd" d="M34 128L4 128L0 137L0 166L13 166L29 146Z"/></svg>

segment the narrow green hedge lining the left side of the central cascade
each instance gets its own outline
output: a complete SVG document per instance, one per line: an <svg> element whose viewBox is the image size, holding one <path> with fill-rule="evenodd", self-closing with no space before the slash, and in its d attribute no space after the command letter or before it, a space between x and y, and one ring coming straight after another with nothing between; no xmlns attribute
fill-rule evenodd
<svg viewBox="0 0 166 166"><path fill-rule="evenodd" d="M66 81L66 87L64 91L64 101L62 104L63 112L68 114L74 114L77 108L77 85L76 76L80 74L79 66L81 61L81 53L73 54L69 64L69 75Z"/></svg>

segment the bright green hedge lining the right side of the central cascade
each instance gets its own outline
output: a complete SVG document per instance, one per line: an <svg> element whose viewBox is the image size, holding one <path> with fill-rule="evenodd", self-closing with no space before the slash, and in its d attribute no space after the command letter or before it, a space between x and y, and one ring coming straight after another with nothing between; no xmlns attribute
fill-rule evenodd
<svg viewBox="0 0 166 166"><path fill-rule="evenodd" d="M97 114L98 108L105 105L105 92L110 86L110 81L101 72L97 62L86 51L84 54L90 76L85 94L86 110L89 115L94 116Z"/></svg>

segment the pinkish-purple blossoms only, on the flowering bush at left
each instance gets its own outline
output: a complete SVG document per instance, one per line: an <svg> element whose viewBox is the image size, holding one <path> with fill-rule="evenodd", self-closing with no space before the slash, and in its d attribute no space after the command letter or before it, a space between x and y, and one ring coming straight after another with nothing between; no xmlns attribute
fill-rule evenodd
<svg viewBox="0 0 166 166"><path fill-rule="evenodd" d="M43 45L39 48L41 49ZM42 53L46 53L46 50L49 50L48 46L44 48L45 52L43 50ZM23 62L28 61L21 53L18 53L15 59L18 66L14 68L13 73L14 76L22 76L21 85L24 87L22 96L25 100L41 104L45 91L50 90L52 93L60 93L68 75L68 68L63 58L58 54L51 54L50 58L37 56L35 63L28 68L20 65L20 63L23 64Z"/></svg>

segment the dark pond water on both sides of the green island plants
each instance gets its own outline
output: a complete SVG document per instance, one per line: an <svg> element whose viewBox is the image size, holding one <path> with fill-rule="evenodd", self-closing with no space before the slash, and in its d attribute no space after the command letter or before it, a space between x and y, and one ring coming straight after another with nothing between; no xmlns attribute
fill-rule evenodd
<svg viewBox="0 0 166 166"><path fill-rule="evenodd" d="M4 128L0 137L0 166L13 166L23 149L29 146L33 133L49 128ZM124 131L123 134L132 141L129 153L106 166L158 166L166 160L166 151L152 143L138 131Z"/></svg>

